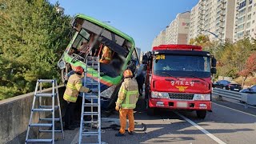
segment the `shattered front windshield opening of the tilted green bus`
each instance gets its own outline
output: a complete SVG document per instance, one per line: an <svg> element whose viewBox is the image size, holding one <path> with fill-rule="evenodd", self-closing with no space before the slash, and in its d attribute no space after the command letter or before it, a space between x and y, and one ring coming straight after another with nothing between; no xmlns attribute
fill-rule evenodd
<svg viewBox="0 0 256 144"><path fill-rule="evenodd" d="M101 74L111 78L118 77L122 73L122 66L132 50L131 42L122 38L104 26L78 18L75 23L77 36L71 46L67 48L67 54L75 58L74 61L85 62L86 54L101 59ZM90 51L89 48L92 47Z"/></svg>

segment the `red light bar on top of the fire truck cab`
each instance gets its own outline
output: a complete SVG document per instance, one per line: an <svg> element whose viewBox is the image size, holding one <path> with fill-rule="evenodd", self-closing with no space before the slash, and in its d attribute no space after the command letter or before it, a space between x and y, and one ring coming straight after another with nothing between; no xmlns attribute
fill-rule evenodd
<svg viewBox="0 0 256 144"><path fill-rule="evenodd" d="M154 50L196 50L202 51L202 46L194 46L194 45L159 45L154 46Z"/></svg>

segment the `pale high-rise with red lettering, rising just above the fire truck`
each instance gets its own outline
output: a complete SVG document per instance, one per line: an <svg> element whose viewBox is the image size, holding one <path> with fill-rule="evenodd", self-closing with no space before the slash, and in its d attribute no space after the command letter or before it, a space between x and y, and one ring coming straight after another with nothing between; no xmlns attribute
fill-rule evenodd
<svg viewBox="0 0 256 144"><path fill-rule="evenodd" d="M166 44L186 44L190 26L190 11L177 14L174 21L166 26Z"/></svg>

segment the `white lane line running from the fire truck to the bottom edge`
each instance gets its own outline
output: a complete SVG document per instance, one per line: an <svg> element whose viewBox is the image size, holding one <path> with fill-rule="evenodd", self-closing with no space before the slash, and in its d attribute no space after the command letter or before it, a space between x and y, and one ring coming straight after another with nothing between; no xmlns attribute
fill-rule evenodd
<svg viewBox="0 0 256 144"><path fill-rule="evenodd" d="M182 114L179 114L178 112L174 112L174 113L178 114L178 116L180 116L183 119L185 119L186 122L190 122L191 125L196 127L198 130L201 130L204 134L206 134L208 137L212 138L215 142L218 142L219 144L226 144L225 142L223 142L219 138L215 137L214 134L210 134L209 131L203 129L201 126L198 126L198 124L196 124L195 122L191 121L189 118L186 118L185 116L183 116Z"/></svg>

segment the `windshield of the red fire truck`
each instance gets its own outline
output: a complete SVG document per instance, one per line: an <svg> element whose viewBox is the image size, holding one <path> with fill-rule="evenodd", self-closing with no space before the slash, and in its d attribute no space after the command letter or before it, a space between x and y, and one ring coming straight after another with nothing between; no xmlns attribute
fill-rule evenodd
<svg viewBox="0 0 256 144"><path fill-rule="evenodd" d="M165 72L175 77L210 77L210 58L205 56L159 54L154 56L153 66L159 76L168 77Z"/></svg>

